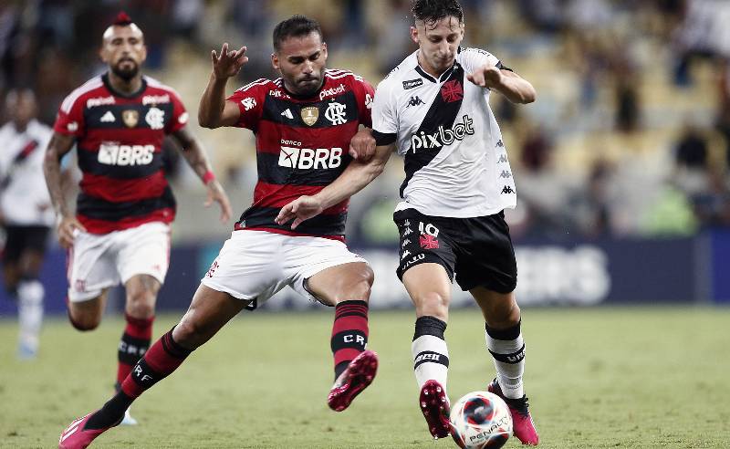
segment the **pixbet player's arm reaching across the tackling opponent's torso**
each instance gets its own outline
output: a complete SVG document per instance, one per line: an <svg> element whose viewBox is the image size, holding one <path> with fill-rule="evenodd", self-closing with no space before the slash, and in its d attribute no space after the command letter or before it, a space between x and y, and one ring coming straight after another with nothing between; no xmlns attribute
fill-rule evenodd
<svg viewBox="0 0 730 449"><path fill-rule="evenodd" d="M348 168L317 194L300 196L282 207L279 214L276 215L276 224L284 225L294 220L291 228L296 229L303 221L321 214L328 207L339 204L360 192L385 170L385 164L388 163L394 149L395 143L375 147L375 154L370 161L355 159L349 162Z"/></svg>

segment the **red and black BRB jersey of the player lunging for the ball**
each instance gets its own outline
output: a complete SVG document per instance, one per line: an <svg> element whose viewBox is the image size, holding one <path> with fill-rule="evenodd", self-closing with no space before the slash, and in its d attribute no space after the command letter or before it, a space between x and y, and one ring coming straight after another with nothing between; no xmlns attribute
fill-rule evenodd
<svg viewBox="0 0 730 449"><path fill-rule="evenodd" d="M274 219L284 205L318 193L345 170L352 159L349 141L360 124L371 126L372 98L372 87L359 76L327 69L321 89L308 98L287 92L278 78L258 79L226 99L241 111L236 126L255 133L258 168L254 204L235 229L344 240L348 200L304 221L296 232Z"/></svg>

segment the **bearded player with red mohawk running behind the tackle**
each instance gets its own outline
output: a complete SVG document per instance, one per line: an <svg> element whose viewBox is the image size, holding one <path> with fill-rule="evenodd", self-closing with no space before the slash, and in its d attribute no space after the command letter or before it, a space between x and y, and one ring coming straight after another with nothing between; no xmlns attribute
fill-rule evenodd
<svg viewBox="0 0 730 449"><path fill-rule="evenodd" d="M102 39L100 57L109 70L63 101L44 161L58 239L68 248L71 323L95 329L110 287L122 283L126 289L118 385L150 347L155 300L169 265L175 200L162 168L165 136L179 144L205 183L208 203L220 204L221 221L231 216L201 144L187 130L180 97L142 76L146 55L141 29L121 13ZM64 198L59 167L74 145L83 172L76 214Z"/></svg>

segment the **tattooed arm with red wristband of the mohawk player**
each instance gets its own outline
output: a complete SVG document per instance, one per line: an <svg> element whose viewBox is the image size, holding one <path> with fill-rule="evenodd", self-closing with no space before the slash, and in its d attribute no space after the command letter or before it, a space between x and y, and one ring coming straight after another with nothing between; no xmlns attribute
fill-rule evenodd
<svg viewBox="0 0 730 449"><path fill-rule="evenodd" d="M205 200L205 207L209 207L211 204L218 203L221 206L221 223L226 223L231 218L233 211L231 210L231 203L228 201L228 195L225 194L224 188L221 183L218 182L214 177L208 179L213 173L210 162L205 156L203 146L198 141L187 127L172 132L172 139L177 141L180 147L183 149L183 158L188 162L188 165L193 169L193 172L205 184L207 190L207 198Z"/></svg>

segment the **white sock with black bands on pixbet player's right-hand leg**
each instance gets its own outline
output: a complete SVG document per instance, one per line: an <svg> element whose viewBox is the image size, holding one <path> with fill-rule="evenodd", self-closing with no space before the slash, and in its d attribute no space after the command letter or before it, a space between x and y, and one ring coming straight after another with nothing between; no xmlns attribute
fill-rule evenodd
<svg viewBox="0 0 730 449"><path fill-rule="evenodd" d="M495 339L490 335L501 334L504 337L507 331L487 329L485 331L486 348L495 360L496 380L502 393L507 398L519 399L525 395L525 388L522 383L522 376L525 372L525 341L522 333L519 332L519 325L516 326L515 339Z"/></svg>

